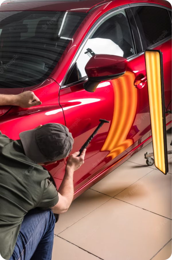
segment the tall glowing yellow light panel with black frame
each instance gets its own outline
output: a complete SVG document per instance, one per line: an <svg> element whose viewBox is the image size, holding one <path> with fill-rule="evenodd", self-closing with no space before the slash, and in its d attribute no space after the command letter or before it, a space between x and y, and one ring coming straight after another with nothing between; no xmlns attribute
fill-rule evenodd
<svg viewBox="0 0 172 260"><path fill-rule="evenodd" d="M145 61L155 166L161 172L167 174L168 156L165 119L163 54L160 50L146 50Z"/></svg>

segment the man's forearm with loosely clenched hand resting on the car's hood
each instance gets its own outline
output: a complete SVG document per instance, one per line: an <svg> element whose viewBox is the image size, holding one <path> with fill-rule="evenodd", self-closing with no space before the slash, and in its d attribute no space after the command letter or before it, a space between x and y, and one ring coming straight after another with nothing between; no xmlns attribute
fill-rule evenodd
<svg viewBox="0 0 172 260"><path fill-rule="evenodd" d="M42 102L35 96L34 92L26 91L18 95L0 94L0 106L19 106L29 108L41 105Z"/></svg>

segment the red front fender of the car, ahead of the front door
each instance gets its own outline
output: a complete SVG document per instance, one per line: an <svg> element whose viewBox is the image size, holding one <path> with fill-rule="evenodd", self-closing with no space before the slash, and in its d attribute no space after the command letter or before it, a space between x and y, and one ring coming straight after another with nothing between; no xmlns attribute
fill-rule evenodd
<svg viewBox="0 0 172 260"><path fill-rule="evenodd" d="M32 90L42 101L42 105L31 108L20 108L13 106L10 111L0 117L0 130L13 140L19 139L22 131L34 129L40 124L59 123L65 125L62 108L58 103L60 86L53 80L47 79L39 87L30 87L25 90ZM56 164L45 166L51 176L57 177L56 187L62 182L65 172L66 160L62 159Z"/></svg>

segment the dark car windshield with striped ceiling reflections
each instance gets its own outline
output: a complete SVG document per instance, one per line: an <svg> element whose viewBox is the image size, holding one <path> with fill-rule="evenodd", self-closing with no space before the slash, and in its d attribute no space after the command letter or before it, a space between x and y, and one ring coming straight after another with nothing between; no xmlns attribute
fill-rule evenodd
<svg viewBox="0 0 172 260"><path fill-rule="evenodd" d="M77 12L0 12L0 88L23 88L44 81L86 16Z"/></svg>

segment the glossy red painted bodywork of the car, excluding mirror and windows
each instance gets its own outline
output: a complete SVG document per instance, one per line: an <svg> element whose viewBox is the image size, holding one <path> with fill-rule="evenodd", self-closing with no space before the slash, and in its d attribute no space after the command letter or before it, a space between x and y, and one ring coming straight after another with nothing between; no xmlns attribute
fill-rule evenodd
<svg viewBox="0 0 172 260"><path fill-rule="evenodd" d="M134 81L140 80L146 75L144 55L130 60L127 71L122 77L101 82L94 93L84 90L84 82L78 82L60 90L71 62L97 19L109 10L132 3L140 3L140 1L88 0L73 3L35 1L25 4L17 2L4 4L0 7L0 11L61 10L88 12L97 5L73 36L50 77L40 85L24 89L24 91L34 91L42 101L42 105L30 109L12 107L5 110L3 108L6 114L0 117L0 130L14 140L19 138L21 131L33 129L40 124L51 122L66 124L75 140L71 153L81 148L98 126L100 118L110 121L110 124L103 125L91 141L87 147L84 166L74 174L74 198L151 141L147 82L140 82L139 88L134 87ZM167 1L146 0L142 3L157 3L171 8ZM158 49L163 52L165 102L168 105L172 96L172 40L158 46ZM12 93L11 89L4 91L7 91L7 94ZM23 89L15 89L14 91L13 94L19 94ZM169 109L172 109L171 106ZM8 109L10 110L8 111ZM167 115L167 129L170 127L172 127L172 115ZM67 158L55 165L46 166L56 183L57 189L64 177L66 160Z"/></svg>

